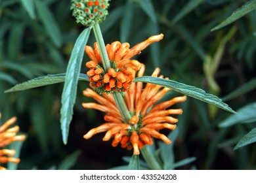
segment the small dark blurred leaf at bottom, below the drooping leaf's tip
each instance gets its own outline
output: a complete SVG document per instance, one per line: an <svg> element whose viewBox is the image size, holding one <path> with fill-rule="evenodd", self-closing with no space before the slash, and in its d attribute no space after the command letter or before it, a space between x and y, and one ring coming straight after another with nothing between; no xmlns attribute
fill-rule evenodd
<svg viewBox="0 0 256 183"><path fill-rule="evenodd" d="M71 169L79 155L81 154L81 150L77 150L75 152L73 152L72 154L68 155L65 159L63 159L63 161L60 163L60 165L58 166L58 170L68 170Z"/></svg>

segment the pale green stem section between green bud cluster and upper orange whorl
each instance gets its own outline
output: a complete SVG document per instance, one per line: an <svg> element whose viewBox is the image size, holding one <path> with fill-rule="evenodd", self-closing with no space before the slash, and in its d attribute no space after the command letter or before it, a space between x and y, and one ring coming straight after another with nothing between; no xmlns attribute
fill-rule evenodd
<svg viewBox="0 0 256 183"><path fill-rule="evenodd" d="M98 49L100 50L104 70L108 72L108 69L111 67L110 59L108 59L108 53L106 52L106 47L99 24L93 25L93 32L95 33L96 42L98 43Z"/></svg>

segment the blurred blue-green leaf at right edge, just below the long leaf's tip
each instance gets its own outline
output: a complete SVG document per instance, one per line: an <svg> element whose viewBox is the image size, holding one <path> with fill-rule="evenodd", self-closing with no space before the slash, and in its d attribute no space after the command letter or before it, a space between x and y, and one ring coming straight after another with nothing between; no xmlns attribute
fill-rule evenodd
<svg viewBox="0 0 256 183"><path fill-rule="evenodd" d="M228 127L238 123L250 123L256 121L256 103L251 103L238 110L237 114L233 114L219 124L219 127Z"/></svg>

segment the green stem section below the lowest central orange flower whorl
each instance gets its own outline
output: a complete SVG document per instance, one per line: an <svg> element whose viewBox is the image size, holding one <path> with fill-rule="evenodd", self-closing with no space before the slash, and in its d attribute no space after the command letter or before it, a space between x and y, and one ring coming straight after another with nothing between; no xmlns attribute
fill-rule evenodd
<svg viewBox="0 0 256 183"><path fill-rule="evenodd" d="M150 152L149 146L144 146L143 148L140 149L140 152L145 159L146 163L152 170L161 170L160 163L158 163L158 160L154 156L152 152Z"/></svg>

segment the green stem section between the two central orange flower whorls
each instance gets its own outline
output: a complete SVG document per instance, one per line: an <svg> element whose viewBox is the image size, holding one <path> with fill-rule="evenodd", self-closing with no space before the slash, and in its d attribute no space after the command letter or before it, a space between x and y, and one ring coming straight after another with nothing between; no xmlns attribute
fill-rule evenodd
<svg viewBox="0 0 256 183"><path fill-rule="evenodd" d="M120 93L113 93L113 97L123 121L128 124L131 120L131 114L125 105L125 101L123 101L122 95Z"/></svg>

